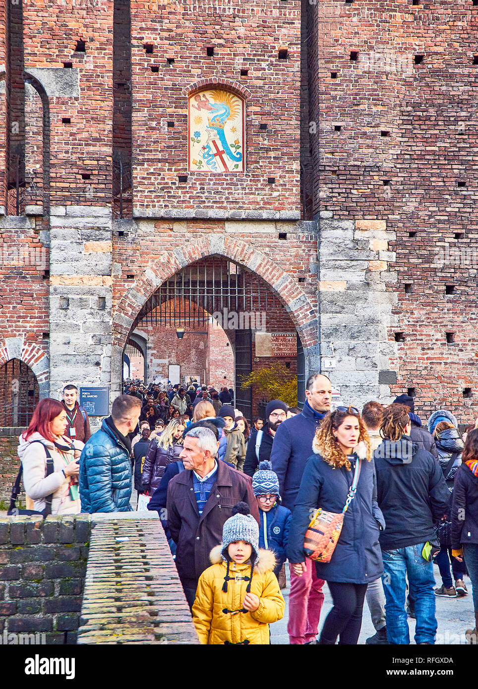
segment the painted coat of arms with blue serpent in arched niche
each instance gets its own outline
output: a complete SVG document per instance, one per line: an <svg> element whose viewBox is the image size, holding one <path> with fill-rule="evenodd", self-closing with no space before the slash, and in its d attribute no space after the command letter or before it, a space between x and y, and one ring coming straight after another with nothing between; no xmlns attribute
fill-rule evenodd
<svg viewBox="0 0 478 689"><path fill-rule="evenodd" d="M189 169L243 172L245 103L230 91L210 89L189 96Z"/></svg>

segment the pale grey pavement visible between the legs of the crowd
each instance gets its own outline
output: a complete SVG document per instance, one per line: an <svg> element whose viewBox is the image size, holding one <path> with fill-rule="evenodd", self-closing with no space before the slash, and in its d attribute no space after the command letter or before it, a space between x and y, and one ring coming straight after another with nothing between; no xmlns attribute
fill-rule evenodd
<svg viewBox="0 0 478 689"><path fill-rule="evenodd" d="M287 619L289 612L289 564L286 564L286 572L287 588L282 590L282 595L286 601L286 609L284 617L275 624L271 624L272 644L289 644L289 636L287 635ZM441 577L437 565L435 565L435 581L437 582L437 587L441 586ZM437 597L437 644L465 644L465 630L475 626L471 582L468 577L465 577L464 582L469 592L467 596L463 598ZM332 597L329 592L329 587L326 584L324 584L324 595L325 599L320 615L319 633L326 615L328 615L329 610L332 608ZM408 626L410 627L411 644L415 644L413 640L415 619L408 617ZM365 644L365 639L368 639L368 637L374 634L375 629L373 628L368 606L365 601L359 644Z"/></svg>

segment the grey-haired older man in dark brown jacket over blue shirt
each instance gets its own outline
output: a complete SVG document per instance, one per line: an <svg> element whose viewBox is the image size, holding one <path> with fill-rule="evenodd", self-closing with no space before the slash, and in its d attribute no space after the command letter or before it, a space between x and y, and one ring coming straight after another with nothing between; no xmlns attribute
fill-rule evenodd
<svg viewBox="0 0 478 689"><path fill-rule="evenodd" d="M185 471L167 488L167 524L176 543L176 568L189 606L196 596L198 579L210 566L209 553L222 539L222 526L237 502L246 502L260 524L249 477L216 460L218 441L208 428L185 435L180 457Z"/></svg>

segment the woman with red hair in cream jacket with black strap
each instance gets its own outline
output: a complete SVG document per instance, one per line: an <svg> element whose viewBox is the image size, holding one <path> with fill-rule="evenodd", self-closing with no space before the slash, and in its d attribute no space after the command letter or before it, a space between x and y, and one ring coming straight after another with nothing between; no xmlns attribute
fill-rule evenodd
<svg viewBox="0 0 478 689"><path fill-rule="evenodd" d="M30 426L19 438L18 454L23 465L25 493L34 500L34 510L42 512L52 495L52 515L78 514L79 464L83 442L64 435L67 426L63 404L52 398L40 400ZM47 475L47 457L53 472ZM48 502L50 502L48 500Z"/></svg>

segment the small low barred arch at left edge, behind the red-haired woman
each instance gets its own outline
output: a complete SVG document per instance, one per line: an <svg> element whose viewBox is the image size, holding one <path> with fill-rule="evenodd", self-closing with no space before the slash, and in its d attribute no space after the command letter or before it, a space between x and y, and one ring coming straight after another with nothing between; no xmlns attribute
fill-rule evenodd
<svg viewBox="0 0 478 689"><path fill-rule="evenodd" d="M28 426L39 402L39 384L19 359L0 364L0 427Z"/></svg>

